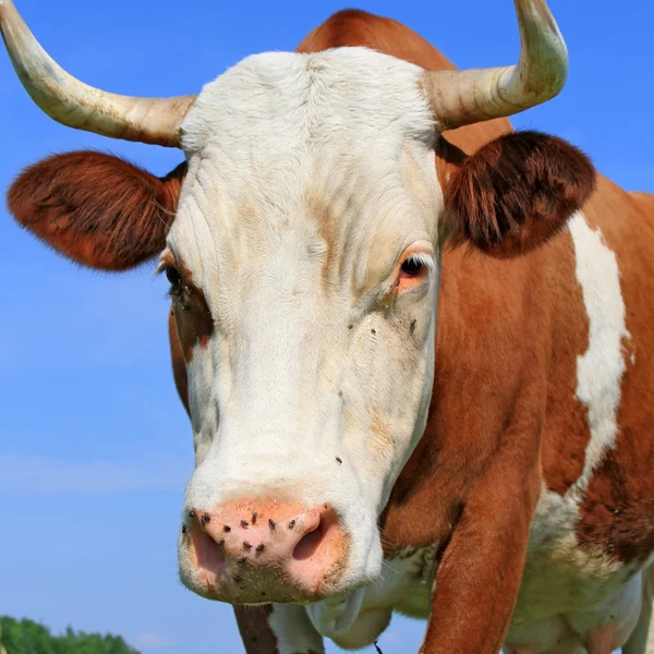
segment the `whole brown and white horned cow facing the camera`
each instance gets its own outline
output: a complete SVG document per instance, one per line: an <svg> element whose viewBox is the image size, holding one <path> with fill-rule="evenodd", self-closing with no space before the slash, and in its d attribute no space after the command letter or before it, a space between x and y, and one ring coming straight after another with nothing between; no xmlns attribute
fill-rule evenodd
<svg viewBox="0 0 654 654"><path fill-rule="evenodd" d="M51 156L9 207L84 266L158 257L196 462L180 574L249 654L361 647L393 610L424 654L654 652L654 196L512 131L568 70L545 0L514 4L507 68L348 10L136 98L0 0L47 114L184 153L164 178Z"/></svg>

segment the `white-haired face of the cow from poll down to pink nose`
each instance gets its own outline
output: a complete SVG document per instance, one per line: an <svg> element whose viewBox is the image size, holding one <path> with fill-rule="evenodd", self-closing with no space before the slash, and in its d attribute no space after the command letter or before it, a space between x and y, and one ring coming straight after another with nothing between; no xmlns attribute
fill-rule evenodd
<svg viewBox="0 0 654 654"><path fill-rule="evenodd" d="M168 244L215 320L189 365L186 506L331 502L348 583L379 571L377 517L432 389L443 197L420 73L362 48L261 55L183 124ZM426 275L396 287L408 252Z"/></svg>

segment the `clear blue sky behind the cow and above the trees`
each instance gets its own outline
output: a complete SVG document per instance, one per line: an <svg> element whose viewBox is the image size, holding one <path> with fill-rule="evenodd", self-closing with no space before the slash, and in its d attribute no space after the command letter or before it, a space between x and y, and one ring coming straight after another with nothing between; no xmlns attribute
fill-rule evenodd
<svg viewBox="0 0 654 654"><path fill-rule="evenodd" d="M80 78L124 94L196 93L241 58L292 50L336 1L16 0L46 49ZM300 5L302 8L300 9ZM654 4L550 0L571 56L561 96L514 124L565 136L630 190L654 192ZM359 7L415 28L459 66L512 63L510 0ZM4 193L56 152L110 150L162 174L175 150L109 142L47 119L0 53ZM82 270L0 207L0 614L59 630L123 634L145 654L242 652L231 609L177 580L175 536L192 469L168 360L165 281ZM385 654L417 650L396 619ZM330 650L335 651L335 650Z"/></svg>

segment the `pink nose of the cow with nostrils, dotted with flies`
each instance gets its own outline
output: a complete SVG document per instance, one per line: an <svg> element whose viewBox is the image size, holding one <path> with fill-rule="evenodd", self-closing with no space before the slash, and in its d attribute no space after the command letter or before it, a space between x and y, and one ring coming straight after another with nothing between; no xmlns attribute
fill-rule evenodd
<svg viewBox="0 0 654 654"><path fill-rule="evenodd" d="M182 582L231 604L311 602L340 590L349 538L329 504L235 501L187 509Z"/></svg>

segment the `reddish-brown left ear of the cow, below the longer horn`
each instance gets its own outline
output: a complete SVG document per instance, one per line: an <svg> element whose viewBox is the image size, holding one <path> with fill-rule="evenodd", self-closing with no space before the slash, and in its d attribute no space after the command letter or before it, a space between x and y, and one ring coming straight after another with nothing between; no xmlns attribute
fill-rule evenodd
<svg viewBox="0 0 654 654"><path fill-rule="evenodd" d="M11 185L16 220L64 256L125 270L166 245L186 165L165 178L95 152L48 157Z"/></svg>

